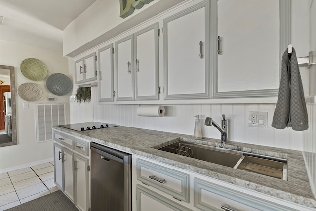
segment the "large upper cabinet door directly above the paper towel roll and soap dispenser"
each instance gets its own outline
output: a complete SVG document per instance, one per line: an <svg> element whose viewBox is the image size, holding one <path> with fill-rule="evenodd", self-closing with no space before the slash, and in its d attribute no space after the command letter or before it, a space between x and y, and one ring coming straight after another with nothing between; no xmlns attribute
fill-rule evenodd
<svg viewBox="0 0 316 211"><path fill-rule="evenodd" d="M209 19L204 1L163 20L165 99L210 98Z"/></svg>

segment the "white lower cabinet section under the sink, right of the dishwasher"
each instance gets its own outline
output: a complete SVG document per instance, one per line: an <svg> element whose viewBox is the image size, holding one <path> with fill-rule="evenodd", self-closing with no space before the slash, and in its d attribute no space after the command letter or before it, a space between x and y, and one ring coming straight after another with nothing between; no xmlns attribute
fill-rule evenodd
<svg viewBox="0 0 316 211"><path fill-rule="evenodd" d="M132 156L133 211L312 211L185 169Z"/></svg>

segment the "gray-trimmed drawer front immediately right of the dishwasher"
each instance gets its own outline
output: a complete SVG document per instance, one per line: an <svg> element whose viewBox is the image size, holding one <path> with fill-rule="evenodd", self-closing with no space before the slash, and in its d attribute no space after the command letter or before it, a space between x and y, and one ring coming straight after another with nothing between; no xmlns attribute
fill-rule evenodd
<svg viewBox="0 0 316 211"><path fill-rule="evenodd" d="M137 179L189 203L189 174L142 159L136 160Z"/></svg>

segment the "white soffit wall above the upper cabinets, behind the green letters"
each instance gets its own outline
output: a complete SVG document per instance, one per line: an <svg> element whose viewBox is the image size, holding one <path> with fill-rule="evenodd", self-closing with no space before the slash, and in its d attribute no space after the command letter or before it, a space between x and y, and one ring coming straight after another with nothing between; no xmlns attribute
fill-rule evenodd
<svg viewBox="0 0 316 211"><path fill-rule="evenodd" d="M74 57L181 1L154 0L123 19L119 17L119 0L97 0L64 30L63 53Z"/></svg>

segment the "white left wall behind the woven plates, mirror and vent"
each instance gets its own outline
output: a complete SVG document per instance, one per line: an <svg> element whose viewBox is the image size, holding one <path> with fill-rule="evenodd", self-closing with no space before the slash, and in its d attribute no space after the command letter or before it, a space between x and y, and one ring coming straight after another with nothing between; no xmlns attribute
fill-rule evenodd
<svg viewBox="0 0 316 211"><path fill-rule="evenodd" d="M45 80L32 81L24 77L20 70L21 62L26 58L37 58L43 61L48 69L48 75L63 73L68 75L68 59L62 56L62 52L42 49L15 42L0 40L0 64L14 66L15 87L26 82L39 84L43 95L36 102L29 102L29 108L23 109L23 102L16 93L16 117L17 117L17 145L0 147L0 171L8 168L22 168L29 163L41 160L52 160L53 141L36 143L34 103L47 103L48 96L54 96L45 86ZM54 96L55 102L69 102L69 95Z"/></svg>

